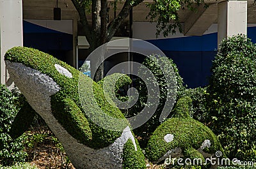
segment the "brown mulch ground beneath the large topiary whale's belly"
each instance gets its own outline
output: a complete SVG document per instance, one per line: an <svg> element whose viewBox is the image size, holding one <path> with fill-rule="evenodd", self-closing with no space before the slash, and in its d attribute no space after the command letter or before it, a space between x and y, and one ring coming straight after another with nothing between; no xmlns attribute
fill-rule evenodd
<svg viewBox="0 0 256 169"><path fill-rule="evenodd" d="M39 169L76 169L67 158L61 143L47 127L33 128L26 133L26 152L28 161ZM146 161L148 164L148 161ZM150 163L148 169L164 168Z"/></svg>

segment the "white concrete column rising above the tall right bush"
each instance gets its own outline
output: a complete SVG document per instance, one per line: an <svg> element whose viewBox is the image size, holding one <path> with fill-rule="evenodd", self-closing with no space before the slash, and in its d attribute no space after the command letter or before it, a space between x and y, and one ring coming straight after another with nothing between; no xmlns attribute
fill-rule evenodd
<svg viewBox="0 0 256 169"><path fill-rule="evenodd" d="M247 34L247 1L218 3L218 44L236 34Z"/></svg>

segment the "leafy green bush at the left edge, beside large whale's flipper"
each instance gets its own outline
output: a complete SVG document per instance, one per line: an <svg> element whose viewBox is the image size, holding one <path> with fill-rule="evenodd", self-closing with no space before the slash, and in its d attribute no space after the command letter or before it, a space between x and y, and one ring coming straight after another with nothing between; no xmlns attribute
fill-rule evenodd
<svg viewBox="0 0 256 169"><path fill-rule="evenodd" d="M24 137L13 140L10 134L10 128L17 114L15 107L15 97L4 85L0 85L0 163L1 165L12 165L17 161L26 159L24 152Z"/></svg>

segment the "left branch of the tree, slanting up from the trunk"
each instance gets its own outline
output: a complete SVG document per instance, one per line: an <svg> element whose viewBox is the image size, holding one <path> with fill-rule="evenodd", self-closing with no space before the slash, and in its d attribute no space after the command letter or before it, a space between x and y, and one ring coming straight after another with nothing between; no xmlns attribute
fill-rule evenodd
<svg viewBox="0 0 256 169"><path fill-rule="evenodd" d="M83 2L78 2L77 0L71 0L71 1L74 4L77 12L79 13L81 24L83 24L83 27L86 27L86 29L84 29L86 40L88 41L89 44L92 44L92 41L93 41L92 40L92 30L90 30L89 23L88 23L88 20L86 17L86 13L85 13L86 8L85 8Z"/></svg>

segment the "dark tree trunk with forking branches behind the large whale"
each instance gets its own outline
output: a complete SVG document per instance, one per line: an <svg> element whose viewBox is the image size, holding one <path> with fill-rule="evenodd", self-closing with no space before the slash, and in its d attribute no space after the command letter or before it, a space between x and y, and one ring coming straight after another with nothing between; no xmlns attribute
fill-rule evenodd
<svg viewBox="0 0 256 169"><path fill-rule="evenodd" d="M109 24L108 26L108 1L107 0L92 0L92 29L90 29L88 20L86 18L86 4L83 3L83 0L71 0L76 10L79 13L80 21L83 25L83 29L85 31L86 39L90 44L90 52L95 50L100 45L108 42L116 33L116 30L122 22L124 22L125 18L129 15L129 11L131 10L132 6L136 6L140 4L143 0L126 0L124 6L120 13L116 16L116 18ZM99 59L95 59L98 62L104 61L104 52L100 54L98 57ZM94 64L97 61L93 61ZM91 62L92 63L92 62ZM93 67L93 64L92 64ZM91 68L92 68L91 67ZM100 64L99 68L95 73L93 79L98 82L100 79L104 77L104 62Z"/></svg>

